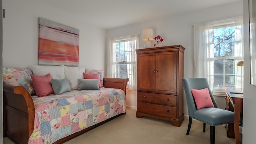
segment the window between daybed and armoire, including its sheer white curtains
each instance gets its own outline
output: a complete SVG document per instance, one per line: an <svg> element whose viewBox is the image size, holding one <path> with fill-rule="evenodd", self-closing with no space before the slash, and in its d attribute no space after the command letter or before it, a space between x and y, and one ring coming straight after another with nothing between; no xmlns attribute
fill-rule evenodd
<svg viewBox="0 0 256 144"><path fill-rule="evenodd" d="M106 75L112 78L129 78L129 90L136 90L136 51L138 35L108 39Z"/></svg>

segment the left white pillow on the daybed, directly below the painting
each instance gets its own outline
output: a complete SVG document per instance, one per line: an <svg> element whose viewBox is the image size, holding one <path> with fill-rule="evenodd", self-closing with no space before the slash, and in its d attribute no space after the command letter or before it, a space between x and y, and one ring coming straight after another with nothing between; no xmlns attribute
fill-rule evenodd
<svg viewBox="0 0 256 144"><path fill-rule="evenodd" d="M53 79L62 80L65 78L65 69L63 64L61 66L32 65L30 69L34 75L45 76L50 73Z"/></svg>

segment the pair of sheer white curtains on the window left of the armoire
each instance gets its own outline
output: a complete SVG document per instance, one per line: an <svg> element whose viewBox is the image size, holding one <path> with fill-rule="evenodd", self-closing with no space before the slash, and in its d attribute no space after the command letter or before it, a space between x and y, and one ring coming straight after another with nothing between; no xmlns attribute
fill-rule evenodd
<svg viewBox="0 0 256 144"><path fill-rule="evenodd" d="M127 41L130 42L130 55L129 55L129 60L131 62L130 67L128 69L129 73L129 85L128 89L129 90L136 90L137 88L137 63L136 63L136 49L139 46L139 35L131 35L131 36L126 36L122 37L121 39L127 39ZM114 73L114 48L115 48L115 43L120 40L120 38L112 38L107 40L107 50L106 50L106 76L107 77L113 77Z"/></svg>

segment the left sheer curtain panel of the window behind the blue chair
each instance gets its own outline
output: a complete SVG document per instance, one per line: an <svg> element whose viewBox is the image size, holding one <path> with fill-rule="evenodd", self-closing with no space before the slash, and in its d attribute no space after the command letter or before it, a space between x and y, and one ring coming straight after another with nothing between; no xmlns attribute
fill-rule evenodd
<svg viewBox="0 0 256 144"><path fill-rule="evenodd" d="M211 60L214 57L213 34L212 22L194 24L194 77L206 78L211 88L214 79L214 61Z"/></svg>

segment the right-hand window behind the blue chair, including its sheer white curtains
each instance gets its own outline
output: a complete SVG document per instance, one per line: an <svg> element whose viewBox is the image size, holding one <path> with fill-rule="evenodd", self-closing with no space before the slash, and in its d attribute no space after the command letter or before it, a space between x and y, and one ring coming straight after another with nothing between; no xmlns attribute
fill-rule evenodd
<svg viewBox="0 0 256 144"><path fill-rule="evenodd" d="M243 88L243 18L194 24L195 78L206 78L214 95Z"/></svg>

